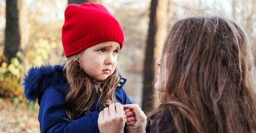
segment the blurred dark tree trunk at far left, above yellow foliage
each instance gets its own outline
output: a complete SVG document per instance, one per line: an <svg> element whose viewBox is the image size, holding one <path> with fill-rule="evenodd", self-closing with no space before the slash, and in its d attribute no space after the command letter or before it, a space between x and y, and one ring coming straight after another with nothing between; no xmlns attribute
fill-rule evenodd
<svg viewBox="0 0 256 133"><path fill-rule="evenodd" d="M20 35L20 9L24 1L6 0L6 28L4 39L4 60L10 64L13 57L17 57L20 51L21 35Z"/></svg>

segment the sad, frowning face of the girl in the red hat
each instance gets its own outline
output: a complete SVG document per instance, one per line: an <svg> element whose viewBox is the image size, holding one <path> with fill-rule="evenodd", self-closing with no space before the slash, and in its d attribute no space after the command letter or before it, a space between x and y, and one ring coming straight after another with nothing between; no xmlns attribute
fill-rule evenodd
<svg viewBox="0 0 256 133"><path fill-rule="evenodd" d="M83 71L94 80L106 80L116 69L119 50L120 45L116 41L106 41L86 48L80 57Z"/></svg>

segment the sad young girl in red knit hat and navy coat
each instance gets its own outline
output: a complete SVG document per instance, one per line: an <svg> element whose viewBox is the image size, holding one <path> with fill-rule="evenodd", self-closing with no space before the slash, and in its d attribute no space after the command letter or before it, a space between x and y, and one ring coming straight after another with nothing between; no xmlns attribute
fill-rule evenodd
<svg viewBox="0 0 256 133"><path fill-rule="evenodd" d="M99 112L111 105L113 110L105 110L122 114L113 124L122 125L124 132L126 116L120 104L131 101L123 89L126 80L116 70L124 43L120 24L100 4L70 4L61 35L67 62L32 67L24 78L25 97L38 99L40 105L40 131L99 132Z"/></svg>

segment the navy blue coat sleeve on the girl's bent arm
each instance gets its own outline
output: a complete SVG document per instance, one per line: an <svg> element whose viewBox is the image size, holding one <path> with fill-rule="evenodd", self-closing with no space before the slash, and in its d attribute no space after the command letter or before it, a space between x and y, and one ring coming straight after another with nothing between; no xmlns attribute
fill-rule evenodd
<svg viewBox="0 0 256 133"><path fill-rule="evenodd" d="M65 97L55 88L49 87L45 90L38 115L41 132L99 132L99 112L93 111L70 122L67 119L64 102Z"/></svg>

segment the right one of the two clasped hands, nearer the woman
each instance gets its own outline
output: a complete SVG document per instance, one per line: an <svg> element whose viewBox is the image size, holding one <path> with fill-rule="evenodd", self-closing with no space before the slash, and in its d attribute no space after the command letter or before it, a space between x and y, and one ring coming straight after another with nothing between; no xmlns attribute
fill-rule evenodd
<svg viewBox="0 0 256 133"><path fill-rule="evenodd" d="M125 115L127 115L127 131L129 133L146 132L147 116L137 104L124 105ZM131 113L132 111L132 113Z"/></svg>

